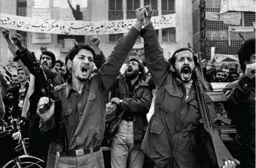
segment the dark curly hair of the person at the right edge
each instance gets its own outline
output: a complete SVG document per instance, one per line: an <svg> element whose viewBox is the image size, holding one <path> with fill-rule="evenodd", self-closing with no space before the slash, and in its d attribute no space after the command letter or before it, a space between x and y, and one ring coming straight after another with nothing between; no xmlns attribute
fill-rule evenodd
<svg viewBox="0 0 256 168"><path fill-rule="evenodd" d="M255 39L251 38L245 40L241 48L238 51L239 65L242 71L245 71L245 61L249 61L252 54L255 53Z"/></svg>

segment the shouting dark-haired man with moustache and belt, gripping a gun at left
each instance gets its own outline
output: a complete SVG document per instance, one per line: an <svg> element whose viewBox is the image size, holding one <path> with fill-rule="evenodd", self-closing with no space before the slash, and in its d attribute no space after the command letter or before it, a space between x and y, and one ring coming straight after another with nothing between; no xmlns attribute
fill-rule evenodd
<svg viewBox="0 0 256 168"><path fill-rule="evenodd" d="M56 123L53 113L61 113L63 134L57 145L55 167L104 167L100 145L105 130L105 97L139 37L145 12L136 10L136 24L118 40L108 62L93 77L90 77L96 57L93 48L86 44L74 46L69 52L72 77L59 90L61 100L54 103L46 97L40 99L38 108L50 102L49 110L38 112L45 136L58 135L60 123Z"/></svg>

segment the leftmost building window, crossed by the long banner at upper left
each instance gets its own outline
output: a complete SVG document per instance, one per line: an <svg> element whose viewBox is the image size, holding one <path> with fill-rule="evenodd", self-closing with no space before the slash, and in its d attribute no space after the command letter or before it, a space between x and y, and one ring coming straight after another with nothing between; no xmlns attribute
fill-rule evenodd
<svg viewBox="0 0 256 168"><path fill-rule="evenodd" d="M17 16L26 17L26 0L17 1ZM17 34L20 34L23 37L23 43L27 45L27 32L26 31L17 31Z"/></svg>

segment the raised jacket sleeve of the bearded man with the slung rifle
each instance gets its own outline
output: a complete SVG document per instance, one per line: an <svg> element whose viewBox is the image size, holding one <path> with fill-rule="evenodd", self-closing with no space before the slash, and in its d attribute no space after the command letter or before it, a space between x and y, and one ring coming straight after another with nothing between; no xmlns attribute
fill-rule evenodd
<svg viewBox="0 0 256 168"><path fill-rule="evenodd" d="M163 50L157 39L154 26L149 24L141 30L144 38L145 62L156 86L161 86L169 72L169 64L163 57Z"/></svg>

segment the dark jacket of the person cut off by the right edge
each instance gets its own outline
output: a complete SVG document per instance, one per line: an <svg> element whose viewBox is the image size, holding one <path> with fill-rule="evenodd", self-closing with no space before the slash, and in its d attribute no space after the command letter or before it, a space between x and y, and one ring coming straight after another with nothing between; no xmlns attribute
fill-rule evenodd
<svg viewBox="0 0 256 168"><path fill-rule="evenodd" d="M236 159L244 167L255 167L255 81L241 77L224 89L224 108L236 125L239 144Z"/></svg>

